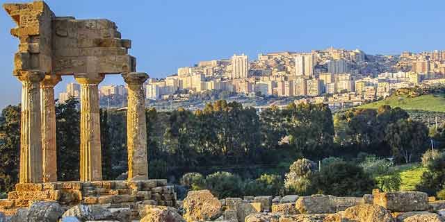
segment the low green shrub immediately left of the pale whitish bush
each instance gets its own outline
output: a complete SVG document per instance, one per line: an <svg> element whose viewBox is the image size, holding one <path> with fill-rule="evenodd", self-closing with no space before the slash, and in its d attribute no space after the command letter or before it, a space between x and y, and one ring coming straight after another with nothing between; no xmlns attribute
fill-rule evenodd
<svg viewBox="0 0 445 222"><path fill-rule="evenodd" d="M263 174L261 177L245 184L246 196L279 196L283 191L283 180L275 174Z"/></svg>

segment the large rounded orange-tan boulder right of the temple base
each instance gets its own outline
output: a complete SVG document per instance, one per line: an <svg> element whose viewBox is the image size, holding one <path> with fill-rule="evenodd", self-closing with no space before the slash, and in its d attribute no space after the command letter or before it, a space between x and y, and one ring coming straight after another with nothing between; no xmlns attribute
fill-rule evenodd
<svg viewBox="0 0 445 222"><path fill-rule="evenodd" d="M184 199L186 221L214 220L221 216L220 200L209 190L189 191Z"/></svg>

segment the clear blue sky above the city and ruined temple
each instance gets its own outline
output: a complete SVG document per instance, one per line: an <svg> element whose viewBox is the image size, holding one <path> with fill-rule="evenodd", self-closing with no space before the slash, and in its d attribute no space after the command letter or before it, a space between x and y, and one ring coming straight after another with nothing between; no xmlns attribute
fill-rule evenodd
<svg viewBox="0 0 445 222"><path fill-rule="evenodd" d="M0 0L0 3L6 1ZM8 1L10 2L10 1ZM48 0L57 16L106 18L132 40L138 71L175 73L200 60L245 53L310 51L328 46L366 53L445 49L445 1L295 0ZM0 12L0 108L17 104L21 85L11 71L18 41L15 24ZM56 87L61 92L70 77ZM107 76L104 84L123 84Z"/></svg>

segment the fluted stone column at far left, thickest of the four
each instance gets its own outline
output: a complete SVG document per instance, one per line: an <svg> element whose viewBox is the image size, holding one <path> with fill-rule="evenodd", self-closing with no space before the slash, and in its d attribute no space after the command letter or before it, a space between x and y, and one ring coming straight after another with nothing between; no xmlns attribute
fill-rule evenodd
<svg viewBox="0 0 445 222"><path fill-rule="evenodd" d="M44 73L38 70L21 70L17 71L16 76L22 81L19 182L42 182L40 81L43 80Z"/></svg>

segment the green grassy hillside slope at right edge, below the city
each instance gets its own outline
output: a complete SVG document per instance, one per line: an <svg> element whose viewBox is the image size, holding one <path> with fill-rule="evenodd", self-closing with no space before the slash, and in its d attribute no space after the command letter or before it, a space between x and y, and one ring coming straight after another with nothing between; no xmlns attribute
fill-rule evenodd
<svg viewBox="0 0 445 222"><path fill-rule="evenodd" d="M428 94L414 98L391 96L381 101L360 105L357 108L377 109L381 105L391 105L391 108L400 107L403 110L445 112L445 96L439 94Z"/></svg>

